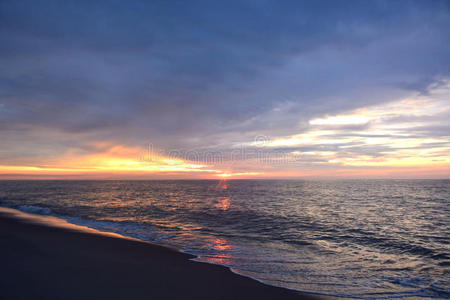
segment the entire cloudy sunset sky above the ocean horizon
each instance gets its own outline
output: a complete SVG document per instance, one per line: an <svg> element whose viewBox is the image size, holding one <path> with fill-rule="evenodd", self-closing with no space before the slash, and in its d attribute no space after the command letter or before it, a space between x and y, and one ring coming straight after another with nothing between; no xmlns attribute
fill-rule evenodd
<svg viewBox="0 0 450 300"><path fill-rule="evenodd" d="M0 179L450 178L449 1L0 0Z"/></svg>

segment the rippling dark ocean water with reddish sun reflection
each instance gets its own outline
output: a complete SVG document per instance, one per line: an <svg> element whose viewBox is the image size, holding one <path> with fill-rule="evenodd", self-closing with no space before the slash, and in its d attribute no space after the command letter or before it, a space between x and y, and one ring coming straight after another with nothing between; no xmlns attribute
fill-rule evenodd
<svg viewBox="0 0 450 300"><path fill-rule="evenodd" d="M299 291L450 298L450 180L0 181L0 206Z"/></svg>

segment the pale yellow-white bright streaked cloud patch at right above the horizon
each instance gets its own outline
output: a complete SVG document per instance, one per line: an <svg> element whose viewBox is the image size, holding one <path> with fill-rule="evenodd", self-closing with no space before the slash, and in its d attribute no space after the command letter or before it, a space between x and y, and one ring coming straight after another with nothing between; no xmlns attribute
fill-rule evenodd
<svg viewBox="0 0 450 300"><path fill-rule="evenodd" d="M262 147L308 147L294 150L310 165L342 167L450 166L450 141L416 131L432 126L434 116L450 112L442 88L437 100L406 99L356 109L344 114L314 118L305 132L266 141ZM332 147L330 147L332 146ZM320 150L319 150L320 149ZM330 151L329 149L332 149ZM367 154L365 153L367 152Z"/></svg>

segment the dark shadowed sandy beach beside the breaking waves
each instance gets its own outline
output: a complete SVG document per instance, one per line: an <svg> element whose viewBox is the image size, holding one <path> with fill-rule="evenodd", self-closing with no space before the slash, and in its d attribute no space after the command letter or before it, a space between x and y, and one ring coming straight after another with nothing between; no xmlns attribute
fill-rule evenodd
<svg viewBox="0 0 450 300"><path fill-rule="evenodd" d="M166 247L45 225L53 221L0 210L0 299L319 299Z"/></svg>

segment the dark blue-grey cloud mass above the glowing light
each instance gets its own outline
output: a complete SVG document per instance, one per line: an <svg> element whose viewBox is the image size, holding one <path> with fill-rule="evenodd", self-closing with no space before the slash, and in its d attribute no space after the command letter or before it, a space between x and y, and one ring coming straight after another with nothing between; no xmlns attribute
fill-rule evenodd
<svg viewBox="0 0 450 300"><path fill-rule="evenodd" d="M446 1L1 1L0 128L80 145L287 135L426 93L449 76L448 28Z"/></svg>

